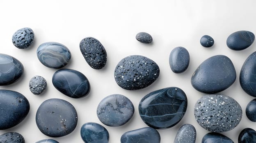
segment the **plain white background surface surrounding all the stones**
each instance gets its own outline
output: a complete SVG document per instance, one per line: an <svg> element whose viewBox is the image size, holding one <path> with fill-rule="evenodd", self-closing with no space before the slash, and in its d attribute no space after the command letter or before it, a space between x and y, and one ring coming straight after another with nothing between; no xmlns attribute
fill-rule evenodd
<svg viewBox="0 0 256 143"><path fill-rule="evenodd" d="M245 59L256 51L255 42L243 51L232 51L226 46L229 34L249 30L256 34L256 1L254 0L1 0L0 1L0 49L20 60L25 73L18 82L1 86L20 92L30 101L30 112L20 124L6 132L18 132L26 143L50 139L37 128L35 114L39 105L49 98L61 98L74 105L78 112L78 125L64 137L55 138L60 143L82 143L80 127L87 122L103 125L96 116L98 103L110 94L123 94L135 106L133 118L121 127L108 127L110 143L119 143L124 132L146 127L138 113L138 104L149 92L164 87L180 87L187 94L188 108L182 121L167 130L158 130L161 143L172 143L179 127L190 123L197 130L197 143L208 133L194 118L194 104L204 94L190 84L194 70L203 60L217 54L224 54L236 69L235 83L221 92L235 98L243 110L243 117L235 129L223 133L235 143L238 134L245 127L256 130L256 123L245 115L246 105L254 97L243 92L239 74ZM17 49L11 42L14 32L30 27L35 34L34 44L28 49ZM153 44L145 45L135 39L138 32L145 31L153 37ZM199 40L203 35L214 38L211 48L203 48ZM80 53L79 43L85 37L97 38L107 50L107 64L104 69L95 70L87 65ZM64 68L81 71L91 84L91 92L85 98L73 99L53 87L52 75L56 69L43 66L37 59L37 47L43 42L60 42L72 54L70 63ZM190 53L190 65L183 74L174 74L169 67L169 54L174 47L183 46ZM160 76L151 86L128 91L119 87L114 80L114 68L124 57L139 54L151 58L160 67ZM28 83L33 76L46 78L48 87L40 96L33 95Z"/></svg>

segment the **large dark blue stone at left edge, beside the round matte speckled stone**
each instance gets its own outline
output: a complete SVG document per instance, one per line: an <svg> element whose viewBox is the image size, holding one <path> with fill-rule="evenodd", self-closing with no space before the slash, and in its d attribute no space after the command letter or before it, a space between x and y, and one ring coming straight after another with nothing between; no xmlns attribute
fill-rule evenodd
<svg viewBox="0 0 256 143"><path fill-rule="evenodd" d="M18 92L0 89L0 130L21 123L30 110L27 98Z"/></svg>

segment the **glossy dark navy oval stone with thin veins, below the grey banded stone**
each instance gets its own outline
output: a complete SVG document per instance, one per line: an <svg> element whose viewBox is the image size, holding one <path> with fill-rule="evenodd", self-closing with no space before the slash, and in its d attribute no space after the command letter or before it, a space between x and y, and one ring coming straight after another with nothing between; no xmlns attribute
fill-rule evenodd
<svg viewBox="0 0 256 143"><path fill-rule="evenodd" d="M73 69L59 69L53 74L52 82L59 92L72 98L87 96L90 83L84 74Z"/></svg>

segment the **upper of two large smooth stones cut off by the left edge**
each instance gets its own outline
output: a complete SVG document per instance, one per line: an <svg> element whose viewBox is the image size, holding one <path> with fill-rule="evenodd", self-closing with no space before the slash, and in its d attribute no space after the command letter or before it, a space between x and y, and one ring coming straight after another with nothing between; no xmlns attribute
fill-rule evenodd
<svg viewBox="0 0 256 143"><path fill-rule="evenodd" d="M0 85L16 82L23 74L24 67L16 58L0 54Z"/></svg>

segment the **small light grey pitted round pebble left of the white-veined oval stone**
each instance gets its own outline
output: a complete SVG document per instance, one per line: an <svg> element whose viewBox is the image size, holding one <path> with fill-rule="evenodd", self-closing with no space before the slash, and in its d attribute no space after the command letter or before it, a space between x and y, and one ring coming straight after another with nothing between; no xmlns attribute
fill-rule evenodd
<svg viewBox="0 0 256 143"><path fill-rule="evenodd" d="M32 94L39 95L47 87L46 79L42 76L34 76L30 79L29 88Z"/></svg>

